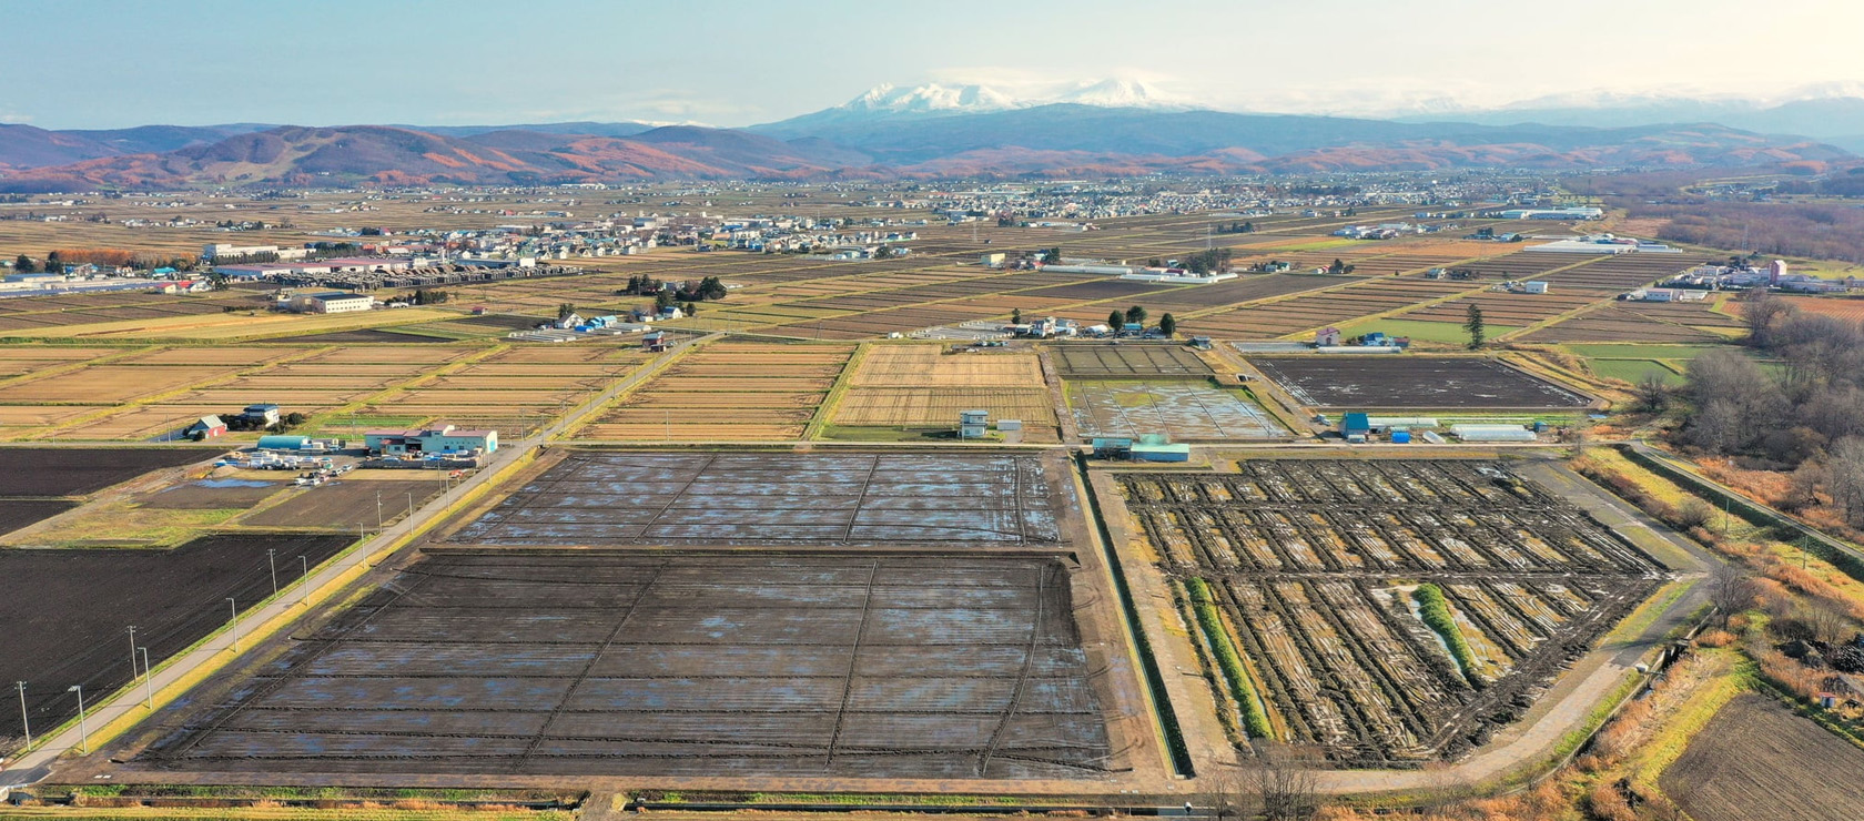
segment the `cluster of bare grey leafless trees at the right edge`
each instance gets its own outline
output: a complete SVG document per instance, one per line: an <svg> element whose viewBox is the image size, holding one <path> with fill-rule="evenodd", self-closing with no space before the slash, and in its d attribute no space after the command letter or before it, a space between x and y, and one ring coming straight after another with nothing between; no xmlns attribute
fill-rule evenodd
<svg viewBox="0 0 1864 821"><path fill-rule="evenodd" d="M1679 438L1713 455L1789 470L1784 508L1830 504L1864 526L1864 327L1806 313L1758 295L1747 304L1752 353L1707 351L1691 360L1679 390ZM1637 388L1646 410L1672 392ZM1821 500L1823 493L1823 500Z"/></svg>

